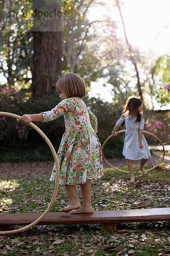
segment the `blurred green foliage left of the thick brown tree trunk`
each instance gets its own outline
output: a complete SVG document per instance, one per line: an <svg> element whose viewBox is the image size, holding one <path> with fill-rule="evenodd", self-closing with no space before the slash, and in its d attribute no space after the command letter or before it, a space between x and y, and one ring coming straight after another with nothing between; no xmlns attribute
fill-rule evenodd
<svg viewBox="0 0 170 256"><path fill-rule="evenodd" d="M8 86L29 87L32 66L32 34L28 20L23 15L31 6L29 1L6 1L2 8L0 27L0 72L6 77ZM26 84L28 83L28 84Z"/></svg>

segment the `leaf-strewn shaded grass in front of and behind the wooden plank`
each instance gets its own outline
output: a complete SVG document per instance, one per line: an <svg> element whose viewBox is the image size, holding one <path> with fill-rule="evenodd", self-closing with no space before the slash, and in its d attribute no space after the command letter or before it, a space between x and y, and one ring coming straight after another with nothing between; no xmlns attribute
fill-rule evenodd
<svg viewBox="0 0 170 256"><path fill-rule="evenodd" d="M127 167L124 167L126 169ZM134 169L137 170L137 166ZM1 212L42 212L50 200L54 183L49 177L1 180ZM170 171L154 169L147 176L105 169L100 182L92 185L94 210L170 207ZM80 187L78 196L82 200ZM65 187L59 186L51 209L68 203ZM170 222L118 224L116 232L102 232L99 224L34 226L24 233L0 236L2 255L170 255Z"/></svg>

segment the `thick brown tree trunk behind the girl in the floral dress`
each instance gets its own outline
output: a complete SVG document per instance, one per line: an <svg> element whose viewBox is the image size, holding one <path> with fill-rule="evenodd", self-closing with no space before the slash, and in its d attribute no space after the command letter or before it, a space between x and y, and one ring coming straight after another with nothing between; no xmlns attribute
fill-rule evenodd
<svg viewBox="0 0 170 256"><path fill-rule="evenodd" d="M34 50L32 93L36 98L54 93L56 78L62 70L61 7L60 0L35 0L33 4L35 17L32 28ZM36 12L37 16L39 13L41 17L37 17Z"/></svg>

